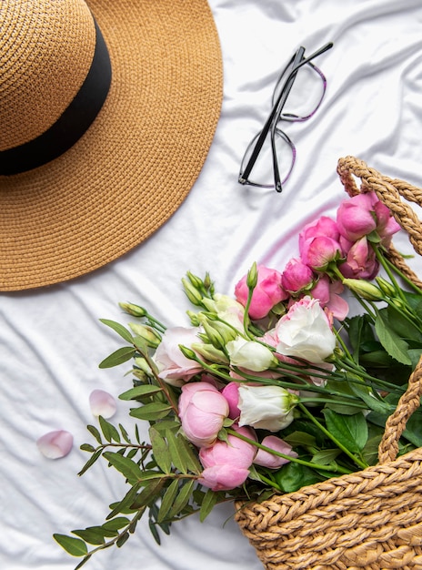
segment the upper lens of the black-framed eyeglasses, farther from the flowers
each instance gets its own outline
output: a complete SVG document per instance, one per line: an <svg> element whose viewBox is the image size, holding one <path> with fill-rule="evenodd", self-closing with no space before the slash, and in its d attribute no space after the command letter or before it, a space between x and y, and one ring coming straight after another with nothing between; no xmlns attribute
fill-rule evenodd
<svg viewBox="0 0 422 570"><path fill-rule="evenodd" d="M286 67L282 75L279 76L273 94L273 105L280 96L282 89L286 88L286 82L290 80L291 72L292 65ZM299 67L280 119L304 121L312 117L320 106L325 92L326 78L316 66L308 63Z"/></svg>

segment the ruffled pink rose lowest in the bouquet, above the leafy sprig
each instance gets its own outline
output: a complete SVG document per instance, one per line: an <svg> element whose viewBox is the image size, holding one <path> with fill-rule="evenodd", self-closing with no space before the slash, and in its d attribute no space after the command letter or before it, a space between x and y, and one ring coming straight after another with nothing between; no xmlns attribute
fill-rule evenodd
<svg viewBox="0 0 422 570"><path fill-rule="evenodd" d="M256 440L255 433L246 427L236 432ZM245 483L252 465L256 446L244 442L236 435L228 435L228 443L217 441L212 447L201 448L199 459L204 466L199 483L213 491L228 491Z"/></svg>

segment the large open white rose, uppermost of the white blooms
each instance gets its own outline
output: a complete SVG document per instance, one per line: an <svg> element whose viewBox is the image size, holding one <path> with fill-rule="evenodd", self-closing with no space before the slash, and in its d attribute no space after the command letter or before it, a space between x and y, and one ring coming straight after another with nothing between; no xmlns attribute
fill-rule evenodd
<svg viewBox="0 0 422 570"><path fill-rule="evenodd" d="M336 337L318 300L304 297L297 301L276 325L276 351L321 363L336 348Z"/></svg>

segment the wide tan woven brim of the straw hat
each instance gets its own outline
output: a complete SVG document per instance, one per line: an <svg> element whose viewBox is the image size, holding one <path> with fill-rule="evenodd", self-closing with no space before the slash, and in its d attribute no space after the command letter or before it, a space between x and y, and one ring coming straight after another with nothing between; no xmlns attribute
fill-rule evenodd
<svg viewBox="0 0 422 570"><path fill-rule="evenodd" d="M0 177L0 290L84 275L151 236L196 181L222 56L206 0L88 0L108 46L106 102L74 147Z"/></svg>

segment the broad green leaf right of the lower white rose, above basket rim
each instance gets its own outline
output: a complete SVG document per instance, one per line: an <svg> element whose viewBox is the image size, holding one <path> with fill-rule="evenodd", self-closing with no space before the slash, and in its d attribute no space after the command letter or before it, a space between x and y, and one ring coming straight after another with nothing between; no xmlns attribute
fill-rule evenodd
<svg viewBox="0 0 422 570"><path fill-rule="evenodd" d="M324 408L327 430L342 443L349 452L359 453L367 443L367 422L363 413L341 415Z"/></svg>

